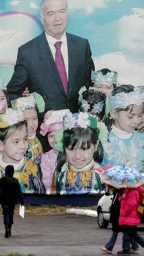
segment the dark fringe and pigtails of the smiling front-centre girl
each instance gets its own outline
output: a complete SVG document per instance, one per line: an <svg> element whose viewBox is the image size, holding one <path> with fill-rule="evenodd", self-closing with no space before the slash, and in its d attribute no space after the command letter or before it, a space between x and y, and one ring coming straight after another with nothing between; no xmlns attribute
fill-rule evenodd
<svg viewBox="0 0 144 256"><path fill-rule="evenodd" d="M81 128L75 127L71 130L65 130L63 132L63 150L64 152L59 152L57 157L57 170L60 172L64 163L66 162L66 152L65 149L74 148L75 145L78 145L81 142L79 147L81 148L90 148L91 144L96 145L99 136L99 129L93 129L90 127ZM102 143L99 141L96 153L93 154L93 159L96 162L102 163L103 160L103 148Z"/></svg>

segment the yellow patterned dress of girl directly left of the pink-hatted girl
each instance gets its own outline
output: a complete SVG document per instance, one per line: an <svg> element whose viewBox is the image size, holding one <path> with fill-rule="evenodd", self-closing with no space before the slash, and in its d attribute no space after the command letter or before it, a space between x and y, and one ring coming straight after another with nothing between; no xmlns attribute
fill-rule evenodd
<svg viewBox="0 0 144 256"><path fill-rule="evenodd" d="M42 145L39 139L36 137L36 133L33 136L28 137L27 141L28 141L28 149L25 154L25 157L27 158L27 160L31 159L35 161L39 157L39 154L43 153Z"/></svg>

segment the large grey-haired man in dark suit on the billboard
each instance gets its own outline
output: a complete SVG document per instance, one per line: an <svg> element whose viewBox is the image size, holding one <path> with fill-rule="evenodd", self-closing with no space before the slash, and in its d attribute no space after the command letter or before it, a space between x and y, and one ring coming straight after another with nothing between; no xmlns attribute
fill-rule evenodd
<svg viewBox="0 0 144 256"><path fill-rule="evenodd" d="M21 96L26 87L45 100L45 111L69 108L78 111L78 91L91 85L94 70L87 39L66 33L67 0L43 0L40 19L45 32L18 48L14 74L7 85L10 99ZM67 75L63 85L55 62L55 42L61 41L61 53ZM23 94L24 95L24 94Z"/></svg>

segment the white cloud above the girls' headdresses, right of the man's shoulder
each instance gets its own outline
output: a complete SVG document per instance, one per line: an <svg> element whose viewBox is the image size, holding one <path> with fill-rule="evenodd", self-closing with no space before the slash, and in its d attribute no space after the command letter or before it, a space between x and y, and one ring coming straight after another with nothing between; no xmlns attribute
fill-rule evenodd
<svg viewBox="0 0 144 256"><path fill-rule="evenodd" d="M129 62L123 52L113 52L93 58L95 70L108 68L119 72L120 84L144 85L144 66Z"/></svg>

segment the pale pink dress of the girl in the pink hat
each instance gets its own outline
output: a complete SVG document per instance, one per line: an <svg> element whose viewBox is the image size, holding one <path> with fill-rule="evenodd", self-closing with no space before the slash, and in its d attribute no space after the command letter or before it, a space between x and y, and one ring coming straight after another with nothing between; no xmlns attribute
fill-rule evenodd
<svg viewBox="0 0 144 256"><path fill-rule="evenodd" d="M56 169L56 161L59 151L51 149L45 154L41 154L42 180L45 185L46 194L51 193L51 183L54 170Z"/></svg>

